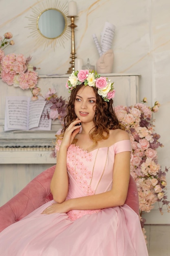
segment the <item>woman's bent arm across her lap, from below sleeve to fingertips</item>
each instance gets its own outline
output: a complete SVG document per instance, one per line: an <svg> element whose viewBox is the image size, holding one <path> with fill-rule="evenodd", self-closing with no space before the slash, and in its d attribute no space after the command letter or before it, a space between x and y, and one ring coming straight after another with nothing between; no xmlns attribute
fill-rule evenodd
<svg viewBox="0 0 170 256"><path fill-rule="evenodd" d="M95 210L108 207L121 206L126 201L130 178L130 152L125 151L115 155L113 167L113 187L110 191L74 198L53 204L44 212L46 214L58 212L66 213L70 210Z"/></svg>

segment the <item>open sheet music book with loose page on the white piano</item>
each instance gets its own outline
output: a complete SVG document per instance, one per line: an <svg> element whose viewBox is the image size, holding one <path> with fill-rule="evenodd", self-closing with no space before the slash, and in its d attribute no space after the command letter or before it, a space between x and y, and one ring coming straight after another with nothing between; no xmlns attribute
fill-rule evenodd
<svg viewBox="0 0 170 256"><path fill-rule="evenodd" d="M51 119L43 112L50 108L43 97L32 101L27 96L7 96L4 131L9 130L51 130Z"/></svg>

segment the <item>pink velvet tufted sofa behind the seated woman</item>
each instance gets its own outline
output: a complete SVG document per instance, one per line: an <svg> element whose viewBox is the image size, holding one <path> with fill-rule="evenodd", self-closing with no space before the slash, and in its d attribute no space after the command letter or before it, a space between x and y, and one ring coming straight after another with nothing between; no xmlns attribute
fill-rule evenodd
<svg viewBox="0 0 170 256"><path fill-rule="evenodd" d="M0 232L14 222L21 220L42 204L53 200L50 182L54 170L55 165L40 173L17 195L0 207ZM125 203L139 215L137 186L131 176Z"/></svg>

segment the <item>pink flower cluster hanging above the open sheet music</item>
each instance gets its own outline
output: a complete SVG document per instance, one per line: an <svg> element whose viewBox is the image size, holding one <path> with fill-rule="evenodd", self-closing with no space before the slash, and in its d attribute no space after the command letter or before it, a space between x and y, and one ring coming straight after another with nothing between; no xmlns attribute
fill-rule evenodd
<svg viewBox="0 0 170 256"><path fill-rule="evenodd" d="M8 54L1 60L1 78L2 81L14 87L20 87L22 90L30 89L32 100L38 99L40 88L37 87L38 73L36 67L31 66L29 62L31 57L25 58L23 54Z"/></svg>

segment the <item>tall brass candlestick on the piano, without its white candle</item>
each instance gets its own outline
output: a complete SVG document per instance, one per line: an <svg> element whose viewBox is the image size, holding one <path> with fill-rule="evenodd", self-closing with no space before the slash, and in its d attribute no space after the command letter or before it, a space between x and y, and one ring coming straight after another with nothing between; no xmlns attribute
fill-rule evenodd
<svg viewBox="0 0 170 256"><path fill-rule="evenodd" d="M74 60L75 58L75 42L74 42L74 29L75 27L77 27L77 25L74 24L74 19L75 17L77 16L67 16L68 18L71 18L71 25L69 25L68 27L71 27L71 61L70 61L70 64L71 64L71 67L69 67L68 71L66 74L71 74L72 72L75 71L74 69Z"/></svg>

